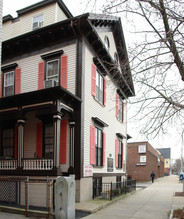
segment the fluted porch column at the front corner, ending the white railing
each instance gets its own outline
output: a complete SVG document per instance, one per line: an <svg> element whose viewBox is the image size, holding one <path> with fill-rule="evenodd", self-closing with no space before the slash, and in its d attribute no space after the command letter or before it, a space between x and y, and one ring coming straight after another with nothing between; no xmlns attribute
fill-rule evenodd
<svg viewBox="0 0 184 219"><path fill-rule="evenodd" d="M61 115L57 114L53 116L54 123L54 167L59 167L60 159L60 126L61 126Z"/></svg>

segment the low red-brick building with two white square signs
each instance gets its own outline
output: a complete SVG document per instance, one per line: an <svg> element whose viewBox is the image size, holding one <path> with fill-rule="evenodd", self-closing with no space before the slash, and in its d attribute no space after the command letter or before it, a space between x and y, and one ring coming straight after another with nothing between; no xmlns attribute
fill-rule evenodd
<svg viewBox="0 0 184 219"><path fill-rule="evenodd" d="M127 174L137 181L151 180L154 171L156 178L164 176L164 158L149 142L134 142L127 145Z"/></svg>

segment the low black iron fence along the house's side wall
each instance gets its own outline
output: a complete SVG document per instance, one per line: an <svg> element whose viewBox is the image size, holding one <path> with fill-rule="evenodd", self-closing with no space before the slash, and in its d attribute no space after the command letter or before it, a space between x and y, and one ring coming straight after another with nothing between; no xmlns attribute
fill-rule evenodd
<svg viewBox="0 0 184 219"><path fill-rule="evenodd" d="M112 200L113 197L136 190L136 180L123 180L115 183L93 183L93 199L103 198Z"/></svg>

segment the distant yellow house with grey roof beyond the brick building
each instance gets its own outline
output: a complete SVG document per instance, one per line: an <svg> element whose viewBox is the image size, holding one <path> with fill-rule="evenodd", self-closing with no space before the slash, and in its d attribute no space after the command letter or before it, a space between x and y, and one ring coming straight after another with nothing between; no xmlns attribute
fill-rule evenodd
<svg viewBox="0 0 184 219"><path fill-rule="evenodd" d="M164 157L164 174L171 174L171 148L157 148L157 150L161 153L162 157Z"/></svg>

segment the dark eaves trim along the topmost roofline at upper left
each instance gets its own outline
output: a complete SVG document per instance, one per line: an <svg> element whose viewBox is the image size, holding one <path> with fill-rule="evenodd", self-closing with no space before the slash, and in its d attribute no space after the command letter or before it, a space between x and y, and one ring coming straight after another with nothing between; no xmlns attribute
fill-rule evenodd
<svg viewBox="0 0 184 219"><path fill-rule="evenodd" d="M20 9L20 10L17 10L18 17L21 16L21 15L24 15L26 13L32 12L34 10L37 10L39 8L42 8L44 6L47 6L49 4L55 3L55 2L58 3L59 7L64 12L64 14L67 16L67 18L73 17L73 15L68 10L68 8L66 7L66 5L63 3L62 0L43 0L43 1L40 1L36 4L30 5L28 7ZM10 14L6 15L6 16L3 17L3 23L6 22L6 21L9 21L9 20L14 20L14 19L15 18L13 18Z"/></svg>

